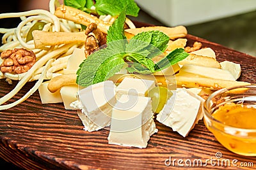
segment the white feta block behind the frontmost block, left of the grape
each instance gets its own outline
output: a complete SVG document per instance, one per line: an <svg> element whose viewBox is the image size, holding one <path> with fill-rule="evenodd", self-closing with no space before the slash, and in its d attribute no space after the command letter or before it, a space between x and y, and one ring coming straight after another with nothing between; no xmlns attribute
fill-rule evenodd
<svg viewBox="0 0 256 170"><path fill-rule="evenodd" d="M122 95L145 96L146 92L153 87L156 87L153 80L126 77L116 88L116 99Z"/></svg>

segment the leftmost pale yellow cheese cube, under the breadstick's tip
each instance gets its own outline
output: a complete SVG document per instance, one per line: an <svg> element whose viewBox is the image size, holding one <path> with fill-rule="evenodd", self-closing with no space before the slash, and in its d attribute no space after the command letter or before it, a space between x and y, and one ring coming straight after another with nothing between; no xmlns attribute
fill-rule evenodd
<svg viewBox="0 0 256 170"><path fill-rule="evenodd" d="M50 92L47 89L49 81L45 81L44 83L42 83L40 85L40 87L38 87L38 91L39 91L39 95L40 95L40 99L42 104L48 104L48 103L62 103L62 98L60 95L60 90L58 90L57 92Z"/></svg>

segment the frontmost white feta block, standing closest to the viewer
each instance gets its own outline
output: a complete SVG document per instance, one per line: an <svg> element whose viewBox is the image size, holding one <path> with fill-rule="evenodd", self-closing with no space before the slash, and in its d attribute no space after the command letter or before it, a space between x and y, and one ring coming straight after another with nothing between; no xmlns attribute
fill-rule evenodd
<svg viewBox="0 0 256 170"><path fill-rule="evenodd" d="M149 97L122 95L112 110L108 143L146 148L157 132L153 116Z"/></svg>

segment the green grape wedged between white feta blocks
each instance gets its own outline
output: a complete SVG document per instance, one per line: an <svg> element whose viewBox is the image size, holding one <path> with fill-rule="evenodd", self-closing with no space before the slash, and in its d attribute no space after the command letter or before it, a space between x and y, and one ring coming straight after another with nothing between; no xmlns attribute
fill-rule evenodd
<svg viewBox="0 0 256 170"><path fill-rule="evenodd" d="M149 90L146 94L147 97L150 97L152 100L152 110L154 113L159 113L166 101L172 96L172 92L166 87L154 87Z"/></svg>

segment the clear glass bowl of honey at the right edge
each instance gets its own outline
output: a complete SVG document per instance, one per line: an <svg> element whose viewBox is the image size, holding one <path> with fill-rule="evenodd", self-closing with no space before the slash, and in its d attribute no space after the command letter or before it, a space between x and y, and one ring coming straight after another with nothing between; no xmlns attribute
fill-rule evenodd
<svg viewBox="0 0 256 170"><path fill-rule="evenodd" d="M204 103L204 124L231 152L256 156L256 85L212 93Z"/></svg>

